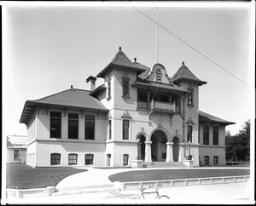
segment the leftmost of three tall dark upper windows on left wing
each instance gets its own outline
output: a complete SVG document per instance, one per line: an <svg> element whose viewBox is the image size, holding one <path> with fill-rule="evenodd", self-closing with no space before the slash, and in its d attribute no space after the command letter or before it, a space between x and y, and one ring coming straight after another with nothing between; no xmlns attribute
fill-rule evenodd
<svg viewBox="0 0 256 206"><path fill-rule="evenodd" d="M61 138L61 112L50 112L50 138Z"/></svg>

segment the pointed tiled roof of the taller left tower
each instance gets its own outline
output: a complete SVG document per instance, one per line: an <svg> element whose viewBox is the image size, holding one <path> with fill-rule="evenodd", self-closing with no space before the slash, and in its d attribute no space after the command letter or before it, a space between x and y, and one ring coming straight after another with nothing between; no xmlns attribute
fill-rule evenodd
<svg viewBox="0 0 256 206"><path fill-rule="evenodd" d="M96 75L96 77L104 77L105 72L107 72L108 69L111 66L122 66L122 67L125 67L125 68L134 69L134 70L139 71L139 72L144 72L145 71L142 68L138 68L137 66L134 66L132 64L131 60L129 60L129 58L122 51L121 47L119 47L119 52L117 54L115 54L115 57L113 58L113 60L108 64L108 66L106 66L102 70L102 72L99 72Z"/></svg>

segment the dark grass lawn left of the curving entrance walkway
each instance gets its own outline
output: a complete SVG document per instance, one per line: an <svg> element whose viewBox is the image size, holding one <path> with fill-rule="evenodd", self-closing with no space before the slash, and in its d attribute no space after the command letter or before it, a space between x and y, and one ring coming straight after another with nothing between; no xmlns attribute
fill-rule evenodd
<svg viewBox="0 0 256 206"><path fill-rule="evenodd" d="M44 188L56 186L65 177L84 171L88 170L70 167L33 169L23 163L11 163L7 164L6 184L7 188L13 189Z"/></svg>

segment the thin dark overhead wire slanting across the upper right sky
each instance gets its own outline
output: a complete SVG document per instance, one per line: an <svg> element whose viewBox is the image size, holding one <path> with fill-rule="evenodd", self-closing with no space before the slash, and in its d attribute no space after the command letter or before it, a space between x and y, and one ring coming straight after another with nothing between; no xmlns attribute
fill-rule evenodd
<svg viewBox="0 0 256 206"><path fill-rule="evenodd" d="M133 9L136 9L137 12L139 12L140 14L143 14L145 17L148 18L148 20L152 20L155 24L157 24L157 26L160 26L162 29L164 29L165 31L167 31L168 33L170 33L173 37L176 37L179 41L181 41L182 43L186 44L187 46L189 46L189 48L195 50L198 54L201 54L203 57L205 57L207 60L210 60L214 65L218 66L219 68L223 69L225 72L229 73L232 77L235 77L237 80L239 80L241 83L244 83L245 85L247 85L247 87L251 87L249 84L245 83L244 81L242 81L240 78L236 77L234 74L232 74L231 72L229 72L228 70L226 70L223 66L218 65L218 63L216 63L214 60L210 59L209 57L207 57L207 55L202 54L198 49L195 49L193 46L191 46L189 43L186 43L185 41L183 41L183 39L181 39L180 37L177 37L177 35L173 34L171 31L167 30L164 26L161 26L158 22L156 22L155 20L151 19L147 14L144 14L142 11L140 11L139 9L132 7Z"/></svg>

